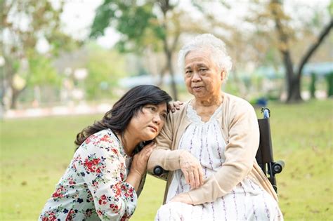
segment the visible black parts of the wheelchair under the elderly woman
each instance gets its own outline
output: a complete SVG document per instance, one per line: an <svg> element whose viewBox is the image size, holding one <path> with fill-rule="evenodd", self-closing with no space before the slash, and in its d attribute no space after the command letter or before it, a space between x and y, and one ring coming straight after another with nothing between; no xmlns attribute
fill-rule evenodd
<svg viewBox="0 0 333 221"><path fill-rule="evenodd" d="M259 164L261 170L263 170L263 173L270 181L270 184L273 186L275 192L278 192L275 174L282 172L282 169L285 167L285 162L284 161L275 162L273 158L273 147L270 135L270 121L269 121L270 109L268 109L267 107L261 107L261 113L263 114L263 119L258 119L260 141L259 141L258 151L256 152L256 162ZM153 175L166 178L166 173L168 171L164 170L161 166L155 166L152 172Z"/></svg>

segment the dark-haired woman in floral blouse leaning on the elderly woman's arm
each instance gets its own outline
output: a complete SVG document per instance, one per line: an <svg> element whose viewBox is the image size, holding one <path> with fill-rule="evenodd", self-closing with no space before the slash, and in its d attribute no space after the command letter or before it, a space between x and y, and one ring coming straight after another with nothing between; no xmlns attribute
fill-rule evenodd
<svg viewBox="0 0 333 221"><path fill-rule="evenodd" d="M101 121L84 128L79 147L39 220L128 220L164 125L170 96L156 86L128 91Z"/></svg>

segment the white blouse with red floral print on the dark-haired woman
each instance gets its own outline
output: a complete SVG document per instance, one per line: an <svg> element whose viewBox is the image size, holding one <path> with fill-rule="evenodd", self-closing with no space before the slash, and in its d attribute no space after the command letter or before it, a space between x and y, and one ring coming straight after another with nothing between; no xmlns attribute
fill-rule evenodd
<svg viewBox="0 0 333 221"><path fill-rule="evenodd" d="M126 180L131 164L112 130L100 130L77 149L39 220L128 220L137 195Z"/></svg>

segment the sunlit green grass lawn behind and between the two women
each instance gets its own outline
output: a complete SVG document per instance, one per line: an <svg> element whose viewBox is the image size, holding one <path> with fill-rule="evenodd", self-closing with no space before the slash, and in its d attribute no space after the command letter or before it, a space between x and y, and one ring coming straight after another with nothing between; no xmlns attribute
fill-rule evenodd
<svg viewBox="0 0 333 221"><path fill-rule="evenodd" d="M277 175L285 220L332 220L332 100L269 107L275 160L286 163ZM101 116L0 121L0 220L37 220L72 159L75 135ZM164 187L148 176L132 220L153 220Z"/></svg>

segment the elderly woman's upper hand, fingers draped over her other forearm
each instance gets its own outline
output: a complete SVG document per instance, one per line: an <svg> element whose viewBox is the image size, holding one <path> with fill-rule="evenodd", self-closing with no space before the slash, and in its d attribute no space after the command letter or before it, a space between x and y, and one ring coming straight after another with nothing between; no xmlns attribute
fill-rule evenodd
<svg viewBox="0 0 333 221"><path fill-rule="evenodd" d="M190 152L183 152L179 156L179 164L184 174L185 182L190 185L191 189L200 187L204 181L200 161Z"/></svg>

